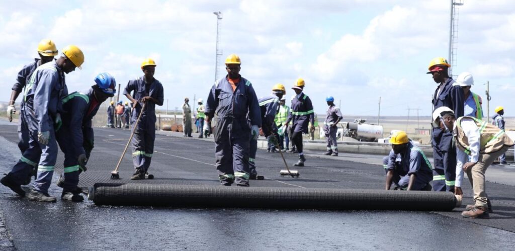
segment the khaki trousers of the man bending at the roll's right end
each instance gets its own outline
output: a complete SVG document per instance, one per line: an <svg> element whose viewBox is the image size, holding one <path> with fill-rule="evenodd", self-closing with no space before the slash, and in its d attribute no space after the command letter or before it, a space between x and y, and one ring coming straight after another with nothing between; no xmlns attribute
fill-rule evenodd
<svg viewBox="0 0 515 251"><path fill-rule="evenodd" d="M479 154L479 161L472 166L471 169L467 170L467 176L469 177L470 184L474 189L474 202L476 207L487 206L487 194L485 184L485 172L494 160L499 156L506 153L509 146L504 146L501 150L491 154Z"/></svg>

